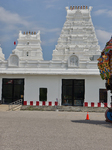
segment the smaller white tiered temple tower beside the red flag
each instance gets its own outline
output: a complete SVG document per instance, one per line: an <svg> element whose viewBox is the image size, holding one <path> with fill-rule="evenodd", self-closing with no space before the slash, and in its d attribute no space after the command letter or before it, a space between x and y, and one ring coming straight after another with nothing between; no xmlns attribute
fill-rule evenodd
<svg viewBox="0 0 112 150"><path fill-rule="evenodd" d="M40 31L36 32L19 32L19 39L16 49L12 54L17 55L19 60L43 60ZM11 54L11 55L12 55Z"/></svg>

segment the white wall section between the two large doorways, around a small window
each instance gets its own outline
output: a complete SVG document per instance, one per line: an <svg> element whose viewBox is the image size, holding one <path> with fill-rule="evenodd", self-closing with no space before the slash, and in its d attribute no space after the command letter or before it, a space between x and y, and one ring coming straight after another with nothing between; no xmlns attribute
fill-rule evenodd
<svg viewBox="0 0 112 150"><path fill-rule="evenodd" d="M60 81L58 76L26 76L24 101L27 101L27 104L33 101L35 105L36 101L39 101L39 89L47 88L47 101L55 102L56 99L59 99L59 86Z"/></svg>

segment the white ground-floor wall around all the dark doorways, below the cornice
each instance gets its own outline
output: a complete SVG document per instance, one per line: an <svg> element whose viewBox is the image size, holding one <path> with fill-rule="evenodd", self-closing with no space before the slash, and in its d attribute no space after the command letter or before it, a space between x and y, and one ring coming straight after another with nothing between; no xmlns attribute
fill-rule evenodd
<svg viewBox="0 0 112 150"><path fill-rule="evenodd" d="M62 79L84 79L85 99L84 102L99 102L99 89L105 89L105 81L97 75L1 75L0 95L2 98L2 78L24 78L24 101L30 105L30 101L36 105L39 101L39 88L47 88L47 102L53 103L58 99L61 104L62 99ZM108 103L110 103L110 92L108 92Z"/></svg>

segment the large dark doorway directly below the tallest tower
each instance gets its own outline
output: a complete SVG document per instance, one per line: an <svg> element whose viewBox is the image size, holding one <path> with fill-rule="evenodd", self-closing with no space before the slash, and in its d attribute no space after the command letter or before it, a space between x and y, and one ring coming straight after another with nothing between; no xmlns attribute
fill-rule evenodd
<svg viewBox="0 0 112 150"><path fill-rule="evenodd" d="M83 106L85 80L62 79L62 105Z"/></svg>

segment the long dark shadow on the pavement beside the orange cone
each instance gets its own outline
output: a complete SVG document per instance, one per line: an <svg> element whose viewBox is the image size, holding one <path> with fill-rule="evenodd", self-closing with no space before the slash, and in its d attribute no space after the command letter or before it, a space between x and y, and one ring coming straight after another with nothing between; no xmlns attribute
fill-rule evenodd
<svg viewBox="0 0 112 150"><path fill-rule="evenodd" d="M101 125L104 127L112 128L112 123L101 121L101 120L71 120L73 123L83 123L83 124L93 124L93 125Z"/></svg>

